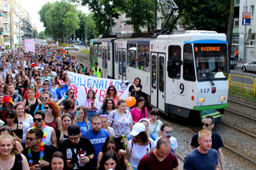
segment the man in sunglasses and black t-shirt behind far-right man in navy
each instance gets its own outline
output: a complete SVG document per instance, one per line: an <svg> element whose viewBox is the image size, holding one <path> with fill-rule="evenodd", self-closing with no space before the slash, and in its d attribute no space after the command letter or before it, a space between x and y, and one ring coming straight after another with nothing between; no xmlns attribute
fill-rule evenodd
<svg viewBox="0 0 256 170"><path fill-rule="evenodd" d="M222 153L222 138L219 136L217 132L212 132L212 129L214 128L214 117L212 116L206 116L202 121L202 128L209 130L211 132L211 138L212 138L212 145L211 148L214 148L218 152L218 160L221 164L222 169L225 170L224 165L224 156ZM192 137L191 144L190 144L190 151L192 151L194 148L198 148L198 133L195 133Z"/></svg>

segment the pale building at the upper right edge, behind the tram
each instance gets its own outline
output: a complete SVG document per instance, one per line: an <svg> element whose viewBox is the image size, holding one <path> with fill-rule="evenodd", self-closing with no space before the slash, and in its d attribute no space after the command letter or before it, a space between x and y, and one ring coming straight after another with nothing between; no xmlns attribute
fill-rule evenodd
<svg viewBox="0 0 256 170"><path fill-rule="evenodd" d="M247 2L247 7L246 7ZM248 32L252 29L249 42L246 44L246 60L250 62L256 59L256 45L255 45L255 34L256 34L256 16L255 16L255 0L234 0L234 29L232 38L232 55L234 55L234 49L238 49L238 60L243 61L244 57L244 41L245 31ZM242 12L250 12L250 26L242 25Z"/></svg>

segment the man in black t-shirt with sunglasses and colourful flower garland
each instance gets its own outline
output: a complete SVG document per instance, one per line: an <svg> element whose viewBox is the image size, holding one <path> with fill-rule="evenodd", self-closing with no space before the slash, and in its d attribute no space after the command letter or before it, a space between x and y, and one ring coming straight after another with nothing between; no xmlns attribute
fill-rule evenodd
<svg viewBox="0 0 256 170"><path fill-rule="evenodd" d="M54 153L54 147L42 143L43 132L39 128L32 128L26 136L26 143L29 147L22 151L26 156L31 167L49 169L51 155Z"/></svg>

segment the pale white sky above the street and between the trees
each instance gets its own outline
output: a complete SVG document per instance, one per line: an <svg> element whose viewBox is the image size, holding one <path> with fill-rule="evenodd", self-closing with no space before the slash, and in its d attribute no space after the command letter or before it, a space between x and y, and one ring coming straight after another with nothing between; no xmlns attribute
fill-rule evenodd
<svg viewBox="0 0 256 170"><path fill-rule="evenodd" d="M38 33L45 30L42 22L40 22L40 17L38 11L41 10L42 6L47 2L60 2L61 0L20 0L23 8L30 14L32 19L33 26L35 25L38 28ZM86 6L78 6L78 10L82 10L83 13L89 14L90 11Z"/></svg>

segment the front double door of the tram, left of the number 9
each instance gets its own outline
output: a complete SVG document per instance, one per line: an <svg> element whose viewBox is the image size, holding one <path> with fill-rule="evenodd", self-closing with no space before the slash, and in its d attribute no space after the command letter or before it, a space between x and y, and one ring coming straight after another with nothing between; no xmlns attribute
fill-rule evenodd
<svg viewBox="0 0 256 170"><path fill-rule="evenodd" d="M165 111L165 53L151 53L151 97L150 103Z"/></svg>

